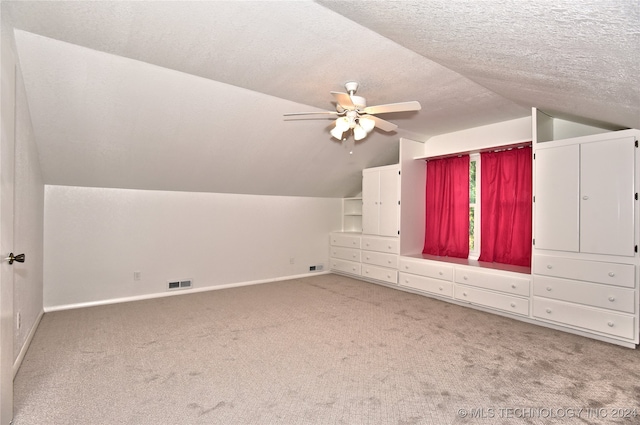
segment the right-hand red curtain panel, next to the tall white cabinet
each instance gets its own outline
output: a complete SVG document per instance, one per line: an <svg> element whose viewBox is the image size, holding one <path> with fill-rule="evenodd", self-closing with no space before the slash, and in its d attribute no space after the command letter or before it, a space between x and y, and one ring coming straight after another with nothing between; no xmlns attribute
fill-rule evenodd
<svg viewBox="0 0 640 425"><path fill-rule="evenodd" d="M480 154L479 261L531 266L531 148Z"/></svg>

